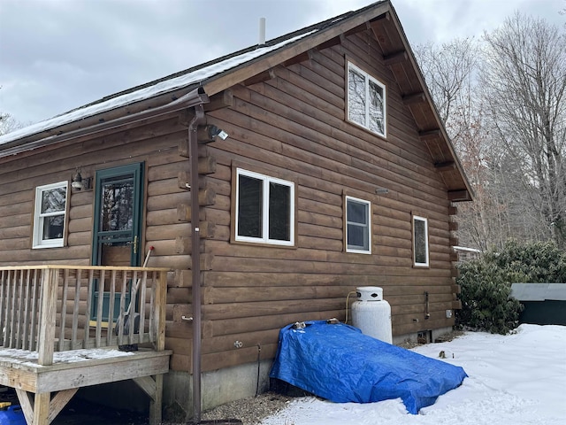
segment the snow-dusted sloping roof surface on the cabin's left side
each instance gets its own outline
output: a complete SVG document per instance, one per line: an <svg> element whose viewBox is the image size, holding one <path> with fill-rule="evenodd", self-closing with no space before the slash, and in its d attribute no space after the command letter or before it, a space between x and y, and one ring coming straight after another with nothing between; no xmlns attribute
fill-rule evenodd
<svg viewBox="0 0 566 425"><path fill-rule="evenodd" d="M378 2L384 3L384 2ZM133 89L128 89L109 97L103 97L96 102L91 104L86 104L80 106L72 111L65 112L61 115L57 115L49 120L43 120L27 128L21 128L19 130L8 133L7 135L0 136L0 151L7 149L8 145L13 145L19 141L19 139L27 138L32 135L39 135L44 132L48 132L55 128L60 128L66 124L77 122L80 120L85 120L88 117L92 117L99 113L109 112L111 110L118 109L130 104L135 104L149 98L157 97L165 93L173 92L178 89L187 89L190 87L203 85L205 81L209 81L218 75L223 73L231 72L234 68L239 66L247 66L254 60L262 58L276 50L281 50L294 42L299 42L302 39L313 35L317 32L324 30L327 27L333 26L337 22L347 19L352 15L358 15L365 12L371 7L375 7L376 4L371 4L356 12L347 12L336 18L325 20L324 22L317 23L310 27L302 28L294 33L287 35L282 35L279 38L273 39L269 42L265 42L262 45L256 45L249 47L245 50L240 50L232 54L226 55L225 57L215 59L213 61L207 62L200 66L195 66L189 68L180 73L174 73L157 81L151 81L149 83L143 84L142 86L134 87ZM50 133L49 135L42 135L43 137L49 137L57 135L57 132ZM27 141L22 141L19 144L26 144ZM31 146L30 149L34 149L35 145Z"/></svg>

